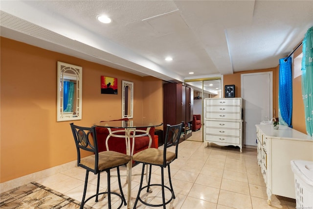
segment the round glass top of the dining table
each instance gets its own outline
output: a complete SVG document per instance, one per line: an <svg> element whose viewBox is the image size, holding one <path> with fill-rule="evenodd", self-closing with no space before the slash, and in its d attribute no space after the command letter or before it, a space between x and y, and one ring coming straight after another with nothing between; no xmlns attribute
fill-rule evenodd
<svg viewBox="0 0 313 209"><path fill-rule="evenodd" d="M94 124L98 127L105 128L148 128L163 125L162 122L157 121L143 121L143 120L115 120L102 121Z"/></svg>

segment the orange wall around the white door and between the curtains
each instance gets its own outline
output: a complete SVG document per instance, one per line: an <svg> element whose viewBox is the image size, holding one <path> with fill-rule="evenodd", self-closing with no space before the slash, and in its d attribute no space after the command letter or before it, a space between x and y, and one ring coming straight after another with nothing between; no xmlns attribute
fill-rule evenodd
<svg viewBox="0 0 313 209"><path fill-rule="evenodd" d="M302 50L302 49L298 49ZM301 52L300 52L301 53ZM296 54L296 53L295 53ZM294 55L295 55L294 54ZM276 117L278 117L278 89L279 89L279 65L276 68L269 68L264 70L249 70L235 72L234 74L224 75L224 85L236 86L235 96L241 97L241 74L254 72L273 72L273 108L276 110ZM292 126L293 129L306 134L304 106L301 93L301 76L292 79Z"/></svg>

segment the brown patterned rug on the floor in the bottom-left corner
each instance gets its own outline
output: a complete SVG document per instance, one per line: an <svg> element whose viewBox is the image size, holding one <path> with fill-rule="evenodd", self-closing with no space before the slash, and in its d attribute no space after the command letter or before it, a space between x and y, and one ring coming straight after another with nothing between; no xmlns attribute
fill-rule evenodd
<svg viewBox="0 0 313 209"><path fill-rule="evenodd" d="M0 194L1 209L79 209L80 202L36 182ZM92 209L85 206L84 209Z"/></svg>

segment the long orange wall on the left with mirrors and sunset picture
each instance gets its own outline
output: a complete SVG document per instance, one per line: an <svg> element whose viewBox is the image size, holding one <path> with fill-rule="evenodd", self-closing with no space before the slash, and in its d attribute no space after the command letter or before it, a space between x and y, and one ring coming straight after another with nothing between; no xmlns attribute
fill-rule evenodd
<svg viewBox="0 0 313 209"><path fill-rule="evenodd" d="M57 61L83 68L81 126L121 118L121 82L134 82L134 119L163 121L162 80L0 38L0 182L76 160L71 121L56 121ZM101 75L118 94L101 94ZM150 95L150 93L152 95Z"/></svg>

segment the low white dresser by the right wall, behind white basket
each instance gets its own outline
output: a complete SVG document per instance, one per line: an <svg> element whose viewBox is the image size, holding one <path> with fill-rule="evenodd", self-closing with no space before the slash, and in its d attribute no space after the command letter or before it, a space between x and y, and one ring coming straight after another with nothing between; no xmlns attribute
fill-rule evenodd
<svg viewBox="0 0 313 209"><path fill-rule="evenodd" d="M256 125L258 164L267 187L268 205L272 194L295 199L291 160L313 161L313 138L280 125Z"/></svg>

